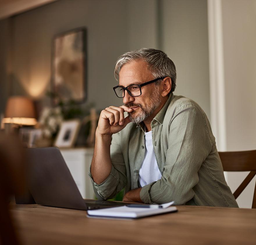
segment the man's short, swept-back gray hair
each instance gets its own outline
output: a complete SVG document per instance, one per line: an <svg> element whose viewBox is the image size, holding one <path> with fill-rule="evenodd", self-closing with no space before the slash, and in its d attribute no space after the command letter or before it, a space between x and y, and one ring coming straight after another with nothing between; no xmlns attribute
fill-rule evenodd
<svg viewBox="0 0 256 245"><path fill-rule="evenodd" d="M141 48L134 51L129 51L118 57L115 63L115 79L119 81L119 72L123 65L132 60L143 60L148 64L148 70L153 77L170 77L172 80L172 87L170 93L176 87L176 68L173 61L161 50L153 48ZM160 84L160 83L159 83Z"/></svg>

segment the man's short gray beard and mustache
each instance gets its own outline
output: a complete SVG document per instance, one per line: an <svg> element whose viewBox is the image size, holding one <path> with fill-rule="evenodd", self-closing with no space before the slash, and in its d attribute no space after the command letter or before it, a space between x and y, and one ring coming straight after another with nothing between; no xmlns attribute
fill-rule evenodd
<svg viewBox="0 0 256 245"><path fill-rule="evenodd" d="M137 115L134 112L128 113L131 122L138 124L150 117L153 112L160 106L161 100L159 98L159 86L156 86L152 92L150 101L147 105L142 106L141 104L127 104L128 107L139 106L141 112Z"/></svg>

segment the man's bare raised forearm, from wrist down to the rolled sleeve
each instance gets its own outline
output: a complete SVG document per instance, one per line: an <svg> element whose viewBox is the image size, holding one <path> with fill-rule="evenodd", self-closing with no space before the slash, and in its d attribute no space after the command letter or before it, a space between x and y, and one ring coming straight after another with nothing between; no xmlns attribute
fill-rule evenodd
<svg viewBox="0 0 256 245"><path fill-rule="evenodd" d="M96 131L91 174L97 184L102 183L111 172L110 145L111 135L100 135Z"/></svg>

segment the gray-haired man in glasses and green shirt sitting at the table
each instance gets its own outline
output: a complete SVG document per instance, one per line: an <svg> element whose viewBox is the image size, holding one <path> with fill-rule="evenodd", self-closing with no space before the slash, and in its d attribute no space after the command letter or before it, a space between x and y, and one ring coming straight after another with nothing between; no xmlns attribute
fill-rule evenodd
<svg viewBox="0 0 256 245"><path fill-rule="evenodd" d="M115 78L125 105L109 106L99 117L89 172L98 199L125 187L123 201L238 207L206 114L173 95L176 69L168 56L127 52L116 62Z"/></svg>

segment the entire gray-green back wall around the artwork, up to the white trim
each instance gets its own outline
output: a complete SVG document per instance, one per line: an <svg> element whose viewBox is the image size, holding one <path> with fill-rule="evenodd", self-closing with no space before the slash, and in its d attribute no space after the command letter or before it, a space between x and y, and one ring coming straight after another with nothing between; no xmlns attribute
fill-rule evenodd
<svg viewBox="0 0 256 245"><path fill-rule="evenodd" d="M51 40L57 33L85 26L88 102L95 102L97 109L122 104L112 89L117 84L113 76L117 57L150 47L161 48L175 62L176 94L194 99L210 115L205 0L193 4L189 0L60 0L12 20L11 94L28 94L49 103L45 91L51 78Z"/></svg>

